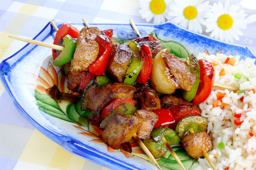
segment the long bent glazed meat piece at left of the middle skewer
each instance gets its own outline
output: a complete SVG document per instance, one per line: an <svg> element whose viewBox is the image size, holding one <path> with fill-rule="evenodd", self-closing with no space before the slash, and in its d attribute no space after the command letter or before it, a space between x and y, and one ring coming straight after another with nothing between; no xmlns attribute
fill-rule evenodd
<svg viewBox="0 0 256 170"><path fill-rule="evenodd" d="M102 87L90 87L82 98L82 110L90 110L89 122L100 126L101 112L115 99L133 97L135 87L125 83L108 83Z"/></svg>

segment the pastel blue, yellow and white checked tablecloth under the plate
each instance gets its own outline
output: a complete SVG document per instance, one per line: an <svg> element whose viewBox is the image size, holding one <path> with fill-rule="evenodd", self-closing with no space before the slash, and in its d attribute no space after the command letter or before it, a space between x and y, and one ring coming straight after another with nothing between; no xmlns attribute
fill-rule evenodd
<svg viewBox="0 0 256 170"><path fill-rule="evenodd" d="M0 62L26 43L8 38L35 37L51 20L67 23L146 23L139 0L0 0ZM152 22L151 22L152 23ZM256 23L235 44L256 56ZM64 150L34 128L15 108L0 82L0 169L108 169Z"/></svg>

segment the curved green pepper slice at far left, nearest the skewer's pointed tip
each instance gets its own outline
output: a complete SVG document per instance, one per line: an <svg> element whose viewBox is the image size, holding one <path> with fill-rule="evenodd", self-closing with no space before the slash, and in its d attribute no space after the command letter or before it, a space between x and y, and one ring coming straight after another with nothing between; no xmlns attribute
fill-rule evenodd
<svg viewBox="0 0 256 170"><path fill-rule="evenodd" d="M71 61L71 59L73 58L73 54L75 53L75 43L72 37L70 35L66 35L63 40L64 50L52 62L52 65L54 66L61 66L65 63L68 63L69 61Z"/></svg>

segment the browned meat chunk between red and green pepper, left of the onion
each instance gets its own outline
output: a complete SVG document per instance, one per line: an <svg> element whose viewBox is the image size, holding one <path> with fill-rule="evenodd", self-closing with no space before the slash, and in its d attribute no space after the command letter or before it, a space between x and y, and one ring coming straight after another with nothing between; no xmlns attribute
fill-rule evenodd
<svg viewBox="0 0 256 170"><path fill-rule="evenodd" d="M106 74L109 78L122 83L132 56L133 52L126 45L113 44L112 56L106 69Z"/></svg>

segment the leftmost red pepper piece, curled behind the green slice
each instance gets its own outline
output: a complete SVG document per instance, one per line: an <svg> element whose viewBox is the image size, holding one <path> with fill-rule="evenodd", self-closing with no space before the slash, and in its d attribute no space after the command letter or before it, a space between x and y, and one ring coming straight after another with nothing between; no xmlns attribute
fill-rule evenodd
<svg viewBox="0 0 256 170"><path fill-rule="evenodd" d="M79 30L76 27L73 27L71 24L61 25L59 30L56 33L53 44L57 45L59 40L66 35L70 35L73 39L79 36ZM57 53L55 49L52 49L53 59L57 58Z"/></svg>

